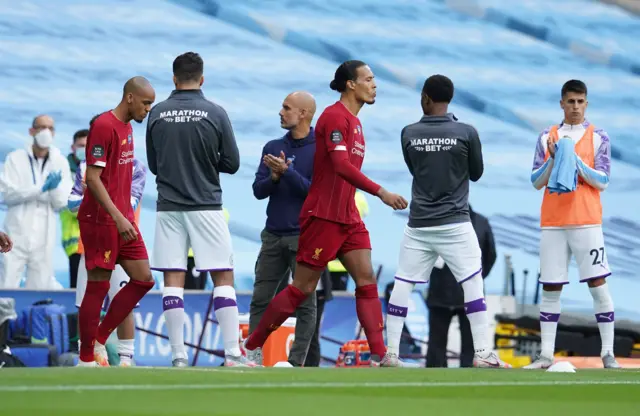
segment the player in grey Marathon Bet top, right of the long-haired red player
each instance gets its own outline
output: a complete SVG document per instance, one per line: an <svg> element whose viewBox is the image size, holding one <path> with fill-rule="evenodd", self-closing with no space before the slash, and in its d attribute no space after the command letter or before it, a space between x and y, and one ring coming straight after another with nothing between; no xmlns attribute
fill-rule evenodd
<svg viewBox="0 0 640 416"><path fill-rule="evenodd" d="M469 218L469 179L482 176L478 132L448 112L453 83L429 77L422 88L424 117L402 130L402 152L413 176L409 223L404 231L395 284L387 310L387 350L398 354L409 297L427 283L438 256L464 291L476 367L508 368L493 352L484 300L482 255Z"/></svg>

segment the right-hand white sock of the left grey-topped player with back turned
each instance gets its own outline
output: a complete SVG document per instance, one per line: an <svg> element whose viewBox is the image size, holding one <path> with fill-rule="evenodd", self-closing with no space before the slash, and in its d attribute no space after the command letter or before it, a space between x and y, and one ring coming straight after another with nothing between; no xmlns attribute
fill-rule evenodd
<svg viewBox="0 0 640 416"><path fill-rule="evenodd" d="M236 303L236 290L233 286L217 286L213 288L213 310L224 343L225 355L239 357L240 352L240 318L238 317L238 304Z"/></svg>

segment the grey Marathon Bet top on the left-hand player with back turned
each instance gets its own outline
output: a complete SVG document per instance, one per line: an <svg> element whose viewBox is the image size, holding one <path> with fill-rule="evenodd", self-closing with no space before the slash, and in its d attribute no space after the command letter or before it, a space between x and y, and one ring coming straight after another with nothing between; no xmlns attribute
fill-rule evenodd
<svg viewBox="0 0 640 416"><path fill-rule="evenodd" d="M201 90L175 90L149 113L147 162L156 175L158 211L222 209L220 173L240 154L226 111Z"/></svg>

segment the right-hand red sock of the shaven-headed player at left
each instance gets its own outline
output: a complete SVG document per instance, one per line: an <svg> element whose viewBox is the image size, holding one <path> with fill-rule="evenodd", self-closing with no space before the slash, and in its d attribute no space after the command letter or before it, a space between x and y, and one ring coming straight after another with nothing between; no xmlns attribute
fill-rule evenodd
<svg viewBox="0 0 640 416"><path fill-rule="evenodd" d="M109 310L96 333L96 341L100 344L107 342L107 338L124 321L124 318L131 313L136 304L151 290L154 281L141 282L131 279L124 285L117 295L113 297Z"/></svg>

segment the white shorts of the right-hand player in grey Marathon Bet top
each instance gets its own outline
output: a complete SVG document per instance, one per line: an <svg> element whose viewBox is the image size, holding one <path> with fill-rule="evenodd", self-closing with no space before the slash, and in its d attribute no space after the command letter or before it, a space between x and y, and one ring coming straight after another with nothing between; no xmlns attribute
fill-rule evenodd
<svg viewBox="0 0 640 416"><path fill-rule="evenodd" d="M482 252L470 222L404 229L396 279L427 283L442 257L458 283L482 273Z"/></svg>

